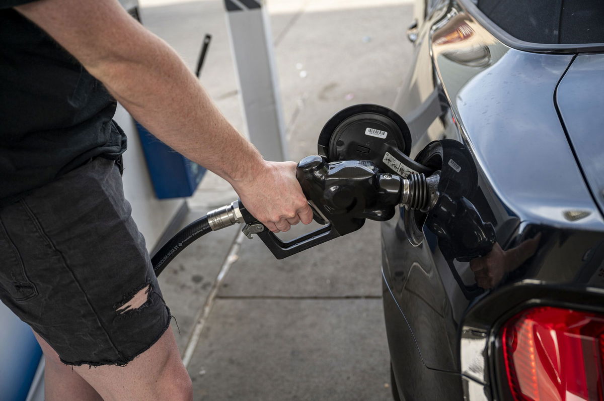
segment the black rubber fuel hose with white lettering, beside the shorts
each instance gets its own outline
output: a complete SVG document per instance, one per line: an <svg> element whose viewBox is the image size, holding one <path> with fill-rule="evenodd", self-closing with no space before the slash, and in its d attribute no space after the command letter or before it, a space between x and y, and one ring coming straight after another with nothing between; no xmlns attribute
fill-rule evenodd
<svg viewBox="0 0 604 401"><path fill-rule="evenodd" d="M178 255L184 248L191 244L191 242L211 232L210 223L208 223L208 215L203 216L200 219L193 221L184 229L176 233L175 236L170 238L168 242L164 244L159 251L157 251L151 258L151 264L155 276L159 276L164 268Z"/></svg>

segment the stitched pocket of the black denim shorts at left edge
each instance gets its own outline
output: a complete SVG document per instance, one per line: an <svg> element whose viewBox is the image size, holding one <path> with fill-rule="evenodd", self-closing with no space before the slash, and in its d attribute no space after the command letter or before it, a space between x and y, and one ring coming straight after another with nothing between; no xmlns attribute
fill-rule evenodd
<svg viewBox="0 0 604 401"><path fill-rule="evenodd" d="M4 259L0 264L0 289L7 292L15 301L27 301L37 295L36 286L25 274L21 255L7 230L0 221L0 255Z"/></svg>

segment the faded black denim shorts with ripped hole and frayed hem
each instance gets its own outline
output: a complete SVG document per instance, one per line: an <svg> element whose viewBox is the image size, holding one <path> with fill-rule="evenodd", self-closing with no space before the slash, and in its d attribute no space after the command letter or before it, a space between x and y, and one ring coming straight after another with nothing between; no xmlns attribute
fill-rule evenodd
<svg viewBox="0 0 604 401"><path fill-rule="evenodd" d="M102 158L0 209L0 298L66 364L125 365L169 327L130 211Z"/></svg>

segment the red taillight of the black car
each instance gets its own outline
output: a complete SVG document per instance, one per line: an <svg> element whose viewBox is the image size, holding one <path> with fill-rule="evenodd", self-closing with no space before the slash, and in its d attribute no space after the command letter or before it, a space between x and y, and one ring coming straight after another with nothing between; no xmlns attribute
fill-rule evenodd
<svg viewBox="0 0 604 401"><path fill-rule="evenodd" d="M604 315L532 308L507 321L501 335L515 400L604 399Z"/></svg>

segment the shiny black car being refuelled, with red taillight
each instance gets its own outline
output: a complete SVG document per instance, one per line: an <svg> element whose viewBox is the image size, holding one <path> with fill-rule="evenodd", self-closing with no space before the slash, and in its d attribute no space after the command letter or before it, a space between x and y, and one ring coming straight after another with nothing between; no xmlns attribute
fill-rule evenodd
<svg viewBox="0 0 604 401"><path fill-rule="evenodd" d="M604 2L419 0L394 111L441 171L382 223L394 398L604 398Z"/></svg>

